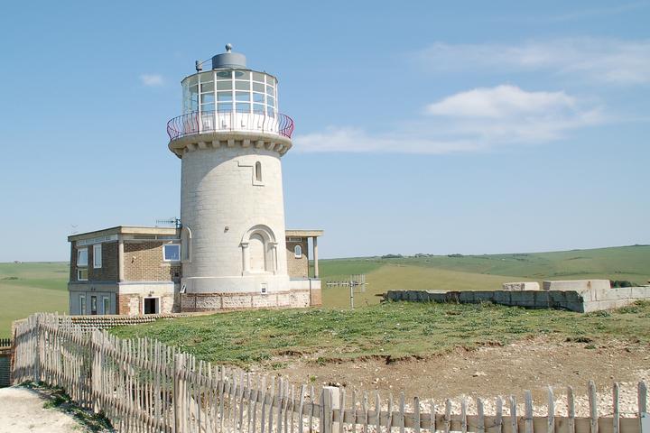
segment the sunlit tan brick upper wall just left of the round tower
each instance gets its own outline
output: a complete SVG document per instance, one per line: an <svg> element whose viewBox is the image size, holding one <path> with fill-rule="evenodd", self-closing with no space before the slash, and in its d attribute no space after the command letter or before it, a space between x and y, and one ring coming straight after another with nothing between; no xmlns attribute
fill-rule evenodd
<svg viewBox="0 0 650 433"><path fill-rule="evenodd" d="M165 241L125 241L126 281L181 281L181 263L163 261Z"/></svg>

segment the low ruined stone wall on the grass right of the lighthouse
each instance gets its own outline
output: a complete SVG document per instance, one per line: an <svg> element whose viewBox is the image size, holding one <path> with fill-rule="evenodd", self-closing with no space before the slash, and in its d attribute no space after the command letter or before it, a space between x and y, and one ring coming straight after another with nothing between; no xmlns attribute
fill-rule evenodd
<svg viewBox="0 0 650 433"><path fill-rule="evenodd" d="M456 302L476 304L493 302L527 309L568 309L589 313L601 309L617 309L636 300L650 300L650 286L590 290L491 290L491 291L430 291L389 290L385 300L420 302Z"/></svg>

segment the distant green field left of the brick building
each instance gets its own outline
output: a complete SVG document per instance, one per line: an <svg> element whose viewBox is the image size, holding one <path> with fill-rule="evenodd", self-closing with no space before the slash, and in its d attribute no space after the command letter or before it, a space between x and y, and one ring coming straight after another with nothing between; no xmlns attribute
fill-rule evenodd
<svg viewBox="0 0 650 433"><path fill-rule="evenodd" d="M37 311L68 311L68 263L0 263L0 337Z"/></svg>

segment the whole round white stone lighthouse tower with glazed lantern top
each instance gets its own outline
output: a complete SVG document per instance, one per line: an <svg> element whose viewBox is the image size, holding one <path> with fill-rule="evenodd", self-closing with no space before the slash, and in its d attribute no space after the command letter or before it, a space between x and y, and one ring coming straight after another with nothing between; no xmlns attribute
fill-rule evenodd
<svg viewBox="0 0 650 433"><path fill-rule="evenodd" d="M228 44L182 90L167 125L182 161L181 309L309 305L287 273L281 157L293 121L278 112L277 78Z"/></svg>

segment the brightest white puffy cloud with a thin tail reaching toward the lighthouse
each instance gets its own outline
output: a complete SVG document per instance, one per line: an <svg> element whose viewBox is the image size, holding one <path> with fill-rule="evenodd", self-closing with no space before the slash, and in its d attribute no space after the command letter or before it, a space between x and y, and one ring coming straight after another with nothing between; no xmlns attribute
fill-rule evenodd
<svg viewBox="0 0 650 433"><path fill-rule="evenodd" d="M422 118L393 133L330 127L299 135L302 152L454 153L544 143L606 121L599 106L564 92L527 92L515 86L476 88L424 107Z"/></svg>

